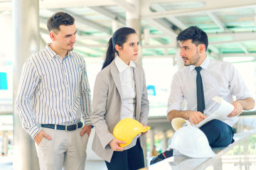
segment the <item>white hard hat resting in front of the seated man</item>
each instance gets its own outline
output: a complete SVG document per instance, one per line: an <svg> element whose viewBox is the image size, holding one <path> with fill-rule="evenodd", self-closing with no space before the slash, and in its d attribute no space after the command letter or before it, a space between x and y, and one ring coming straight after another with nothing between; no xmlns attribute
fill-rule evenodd
<svg viewBox="0 0 256 170"><path fill-rule="evenodd" d="M177 149L181 154L192 158L214 157L206 135L193 126L178 129L171 139L169 149Z"/></svg>

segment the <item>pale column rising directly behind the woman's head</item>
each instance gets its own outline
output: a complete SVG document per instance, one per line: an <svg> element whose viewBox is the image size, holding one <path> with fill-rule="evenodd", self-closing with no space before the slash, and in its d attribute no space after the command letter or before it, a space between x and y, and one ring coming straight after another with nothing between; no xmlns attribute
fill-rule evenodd
<svg viewBox="0 0 256 170"><path fill-rule="evenodd" d="M141 19L139 18L140 16L140 1L138 0L127 0L129 4L132 4L134 8L136 8L135 12L129 12L127 11L126 16L127 16L127 26L134 28L136 30L136 33L139 37L139 41L142 42L142 24L141 24ZM142 64L142 43L139 44L139 54L137 57L137 62Z"/></svg>

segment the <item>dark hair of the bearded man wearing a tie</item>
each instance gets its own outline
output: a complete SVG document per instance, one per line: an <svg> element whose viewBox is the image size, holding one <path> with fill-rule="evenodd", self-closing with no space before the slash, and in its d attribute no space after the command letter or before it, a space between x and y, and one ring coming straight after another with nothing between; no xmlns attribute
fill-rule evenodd
<svg viewBox="0 0 256 170"><path fill-rule="evenodd" d="M178 34L176 40L178 43L186 40L192 40L193 44L196 46L204 44L206 45L206 50L208 47L208 36L206 32L197 26L191 26L186 28L186 30L181 31L181 33Z"/></svg>

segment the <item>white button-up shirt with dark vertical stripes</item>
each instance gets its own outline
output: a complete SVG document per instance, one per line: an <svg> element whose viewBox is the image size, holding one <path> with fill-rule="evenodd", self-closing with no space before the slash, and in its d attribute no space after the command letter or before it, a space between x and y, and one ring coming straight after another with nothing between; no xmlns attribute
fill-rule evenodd
<svg viewBox="0 0 256 170"><path fill-rule="evenodd" d="M73 125L82 117L92 125L85 60L73 51L63 60L46 45L23 66L16 108L33 138L40 131L37 124Z"/></svg>

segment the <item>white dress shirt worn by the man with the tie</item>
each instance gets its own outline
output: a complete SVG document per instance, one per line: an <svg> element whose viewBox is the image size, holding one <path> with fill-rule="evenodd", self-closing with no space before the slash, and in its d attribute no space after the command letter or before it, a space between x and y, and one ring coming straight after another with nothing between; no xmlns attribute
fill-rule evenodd
<svg viewBox="0 0 256 170"><path fill-rule="evenodd" d="M242 81L242 77L229 62L220 62L218 60L206 60L201 64L201 77L203 80L203 93L206 103L204 114L210 115L220 106L213 101L214 96L220 96L225 101L232 103L233 96L236 100L252 97L250 91ZM197 111L196 101L196 70L191 65L179 70L171 82L171 94L168 101L169 111L181 111L183 100L186 101L184 111ZM238 117L228 118L224 122L231 127L238 121Z"/></svg>

